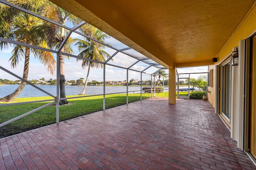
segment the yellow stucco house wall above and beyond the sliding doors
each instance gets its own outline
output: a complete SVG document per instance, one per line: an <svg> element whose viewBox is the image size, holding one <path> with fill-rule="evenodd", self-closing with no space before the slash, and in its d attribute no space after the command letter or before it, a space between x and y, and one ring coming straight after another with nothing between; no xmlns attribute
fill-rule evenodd
<svg viewBox="0 0 256 170"><path fill-rule="evenodd" d="M220 64L230 53L232 53L232 49L235 46L238 46L238 42L240 40L248 38L254 31L256 30L256 3L252 6L244 20L239 24L236 28L232 36L226 42L226 44L222 47L221 51L218 53L216 57L218 57L218 62L214 63L214 65L209 66L209 70L213 69L213 87L208 87L208 101L215 108L215 93L216 93L216 69L215 66Z"/></svg>

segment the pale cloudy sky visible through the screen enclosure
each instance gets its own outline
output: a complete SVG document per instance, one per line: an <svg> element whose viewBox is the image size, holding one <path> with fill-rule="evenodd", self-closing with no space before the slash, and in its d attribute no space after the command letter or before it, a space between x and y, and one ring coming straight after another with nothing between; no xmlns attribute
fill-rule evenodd
<svg viewBox="0 0 256 170"><path fill-rule="evenodd" d="M81 38L79 34L72 33L72 38ZM128 46L119 42L118 40L110 37L105 40L105 43L112 45L112 47L115 47L116 49L124 49ZM116 50L111 49L109 47L106 47L104 49L106 52L108 52L110 55L113 55ZM74 55L78 55L79 51L77 47L73 46ZM135 50L130 49L128 50L129 53L135 54L137 53ZM0 51L0 65L4 67L5 69L8 69L12 73L22 77L23 74L23 68L24 68L24 60L21 60L17 67L11 68L10 66L10 57L12 55L12 48L10 49L3 49ZM144 55L137 53L139 57L145 57ZM56 54L54 54L56 59ZM128 55L125 55L123 53L118 53L113 58L113 61L109 61L108 63L113 65L118 65L121 67L129 67L133 63L137 61L137 59L134 59L132 57L129 57ZM65 79L68 80L77 80L80 78L86 79L88 68L82 69L81 67L81 60L77 61L76 58L70 57L70 59L65 59ZM147 68L149 65L143 63L142 61L138 62L136 65L131 67L131 69L142 71L145 68ZM146 73L154 73L157 71L155 67L150 67L145 72ZM207 72L208 67L190 67L190 68L179 68L178 73L198 73L198 72ZM118 67L113 67L110 65L106 65L106 81L124 81L127 80L126 77L127 70L121 69ZM166 70L166 73L168 73L168 70ZM44 77L45 80L49 80L50 78L56 79L56 71L54 71L54 75L51 75L46 68L37 60L35 59L34 55L31 54L30 56L30 66L29 66L29 73L28 73L28 80L36 79L40 80ZM191 77L198 77L198 74L191 75ZM5 71L0 69L0 79L9 79L9 80L17 80L18 78L14 77L13 75L10 75L9 73L6 73ZM140 81L140 72L136 71L130 71L128 72L128 81L130 79L135 79ZM150 80L151 76L148 74L142 74L142 81ZM103 81L103 69L101 68L91 68L90 74L89 74L89 81L96 80L96 81Z"/></svg>

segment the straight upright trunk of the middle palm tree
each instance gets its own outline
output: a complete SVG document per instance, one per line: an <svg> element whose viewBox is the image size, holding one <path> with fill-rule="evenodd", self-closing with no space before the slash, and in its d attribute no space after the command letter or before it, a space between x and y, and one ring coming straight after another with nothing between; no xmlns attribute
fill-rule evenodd
<svg viewBox="0 0 256 170"><path fill-rule="evenodd" d="M65 91L65 68L64 68L64 55L59 54L60 58L60 98L66 98L66 91ZM60 100L60 105L68 104L66 99Z"/></svg>

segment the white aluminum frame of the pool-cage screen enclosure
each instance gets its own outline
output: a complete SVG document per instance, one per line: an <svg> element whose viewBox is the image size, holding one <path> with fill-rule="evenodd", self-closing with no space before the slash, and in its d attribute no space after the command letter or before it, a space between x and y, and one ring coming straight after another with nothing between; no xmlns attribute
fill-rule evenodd
<svg viewBox="0 0 256 170"><path fill-rule="evenodd" d="M12 44L17 44L17 45L22 45L22 46L25 46L25 47L40 49L40 50L44 50L44 51L49 51L49 52L51 52L51 53L56 53L56 60L57 60L57 62L56 62L56 81L57 81L57 83L56 83L56 96L55 96L55 95L52 95L52 94L50 94L50 93L48 93L48 92L46 92L46 91L44 91L43 89L40 89L39 87L37 87L37 86L33 85L32 83L26 81L25 79L22 79L22 77L19 77L18 75L12 73L12 72L9 71L8 69L6 69L6 68L4 68L4 67L2 67L2 66L0 65L0 69L2 69L3 71L5 71L6 73L9 73L9 74L13 75L14 77L17 77L18 79L20 79L20 80L22 80L22 81L28 83L29 85L32 85L32 86L35 87L36 89L38 89L38 90L40 90L40 91L46 93L47 95L53 97L53 99L51 99L51 100L41 100L41 101L31 101L31 102L1 104L0 107L4 107L4 106L10 106L10 105L22 105L22 104L27 104L27 103L38 103L38 102L46 102L46 101L48 102L48 101L50 101L50 103L48 103L48 104L46 104L46 105L44 105L44 106L42 106L42 107L39 107L39 108L37 108L37 109L34 109L34 110L32 110L32 111L30 111L30 112L28 112L28 113L25 113L25 114L23 114L23 115L20 115L20 116L14 118L14 119L11 119L10 121L6 121L6 122L0 124L0 127L2 127L2 126L4 126L4 125L7 125L8 123L11 123L11 122L13 122L13 121L16 121L16 120L18 120L18 119L20 119L20 118L22 118L22 117L24 117L24 116L26 116L26 115L29 115L29 114L31 114L31 113L34 113L35 111L38 111L38 110L40 110L40 109L42 109L42 108L44 108L44 107L47 107L47 106L49 106L49 105L51 105L51 104L53 104L53 103L56 103L56 123L59 123L59 121L60 121L60 116L59 116L59 101L60 101L60 100L63 100L63 99L74 99L74 98L81 98L81 97L99 96L99 95L88 95L88 96L66 97L66 98L60 98L60 97L59 97L59 91L60 91L60 88L59 88L59 82L60 82L60 80L59 80L59 74L60 74L60 69L59 69L59 67L60 67L60 65L59 65L59 57L58 57L58 56L59 56L60 54L66 55L66 56L69 56L69 57L75 57L75 58L78 58L78 59L84 59L84 60L88 60L88 61L93 61L93 62L101 63L101 64L104 65L104 67L103 67L103 70L104 70L104 71L103 71L103 72L104 72L104 75L103 75L103 76L104 76L104 87L103 87L103 94L100 94L100 95L103 95L103 110L106 109L106 108L105 108L105 107L106 107L106 105L105 105L105 100L106 100L105 97L106 97L106 95L108 95L108 94L119 94L119 93L108 93L108 94L106 94L106 91L105 91L106 65L110 65L110 66L114 66L114 67L118 67L118 68L122 68L122 69L126 69L126 70L127 70L127 75L126 75L126 77L127 77L127 84L126 84L127 89L126 89L126 92L120 92L120 93L126 93L126 104L127 104L127 105L128 105L128 93L136 92L136 91L128 91L128 71L129 71L129 70L132 70L132 71L140 72L140 76L141 76L141 77L140 77L140 80L141 80L141 82L142 82L142 73L144 73L144 74L149 74L149 73L146 73L146 72L145 72L147 69L149 69L149 68L152 67L152 66L153 66L153 67L156 67L157 69L163 68L163 66L160 65L160 64L158 64L158 63L154 63L154 64L147 63L146 60L148 60L149 58L148 58L148 59L138 59L138 58L136 58L135 56L132 56L132 55L129 55L129 54L124 53L125 50L132 49L132 48L130 48L130 47L127 47L127 48L124 48L124 49L116 49L116 48L114 48L114 47L112 47L112 46L110 46L110 45L108 45L108 44L99 42L98 40L96 40L96 39L94 39L94 38L91 38L91 37L89 37L89 36L87 36L87 35L85 35L85 34L82 34L81 32L76 31L76 30L79 29L81 26L83 26L84 24L86 24L86 22L84 22L84 21L80 22L79 24L77 24L77 25L74 26L73 28L69 28L69 27L67 27L67 26L63 26L62 24L59 24L58 22L54 22L54 21L52 21L52 20L49 20L48 18L44 18L44 17L42 17L42 16L40 16L40 15L38 15L38 14L35 14L35 13L31 12L31 11L28 11L28 10L26 10L26 9L24 9L24 8L21 8L21 7L19 7L19 6L16 6L16 5L14 5L14 4L11 4L10 2L7 2L7 1L5 1L5 0L0 0L0 3L5 4L5 5L8 5L8 6L11 6L11 7L16 8L16 9L18 9L18 10L21 10L21 11L23 11L23 12L26 12L26 13L32 15L32 16L36 16L36 17L38 17L38 18L40 18L40 19L42 19L42 20L45 20L45 21L47 21L47 22L50 22L50 23L52 23L52 24L55 24L55 25L60 26L60 27L62 27L62 28L65 28L66 30L69 30L69 32L67 33L67 35L66 35L64 41L61 43L61 45L60 45L60 47L58 48L58 50L46 49L46 48L38 47L38 46L35 46L35 45L30 45L30 44L27 44L27 43L22 43L22 42L17 42L17 41L14 41L14 40L9 40L9 39L5 39L5 38L0 38L0 41L3 41L3 42L12 43ZM94 40L94 41L96 41L96 42L98 42L98 43L101 43L101 44L105 45L106 47L109 47L109 48L112 48L112 49L116 50L116 52L115 52L110 58L108 58L105 62L100 62L100 61L96 61L96 60L92 60L92 59L80 57L80 56L77 56L77 55L72 55L72 54L68 54L68 53L63 53L63 52L61 52L61 49L62 49L62 47L65 45L66 41L68 40L68 38L70 37L70 35L72 34L72 32L75 32L76 34L80 34L81 36L84 36L84 37L86 37L86 38L90 38L91 40ZM113 64L108 63L108 61L110 61L110 59L112 59L112 57L114 57L114 56L115 56L117 53L119 53L119 52L120 52L120 53L124 53L125 55L128 55L128 56L130 56L130 57L132 57L132 58L135 58L135 59L137 59L138 61L136 61L135 63L133 63L132 65L130 65L128 68L126 68L126 67L121 67L121 66L118 66L118 65L113 65ZM138 63L139 61L142 61L142 62L144 62L144 63L146 63L147 65L150 65L150 66L147 67L146 69L142 70L142 71L138 71L138 70L131 69L131 67L134 66L134 65L136 65L136 63ZM157 66L159 66L159 67L157 67ZM153 74L154 74L154 73L153 73ZM151 75L151 77L152 77L153 74L149 74L149 75ZM152 78L151 78L151 82L152 82ZM153 90L153 89L152 89L152 85L151 85L151 91L152 91L152 90ZM141 84L141 88L140 88L139 91L140 91L140 100L142 100L142 84ZM152 93L151 93L151 97L152 97Z"/></svg>

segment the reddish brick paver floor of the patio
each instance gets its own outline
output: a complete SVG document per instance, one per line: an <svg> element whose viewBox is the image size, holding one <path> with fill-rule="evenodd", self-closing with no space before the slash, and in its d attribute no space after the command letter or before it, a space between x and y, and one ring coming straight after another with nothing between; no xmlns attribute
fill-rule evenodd
<svg viewBox="0 0 256 170"><path fill-rule="evenodd" d="M208 101L154 98L0 139L4 169L256 169Z"/></svg>

